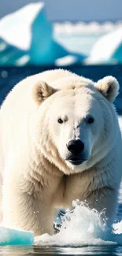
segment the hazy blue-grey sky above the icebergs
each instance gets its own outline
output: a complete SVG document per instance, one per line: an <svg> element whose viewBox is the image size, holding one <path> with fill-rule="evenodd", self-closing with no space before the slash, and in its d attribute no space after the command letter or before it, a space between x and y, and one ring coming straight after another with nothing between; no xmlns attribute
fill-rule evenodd
<svg viewBox="0 0 122 256"><path fill-rule="evenodd" d="M1 0L0 18L29 2L39 0ZM122 20L122 0L44 0L49 20Z"/></svg>

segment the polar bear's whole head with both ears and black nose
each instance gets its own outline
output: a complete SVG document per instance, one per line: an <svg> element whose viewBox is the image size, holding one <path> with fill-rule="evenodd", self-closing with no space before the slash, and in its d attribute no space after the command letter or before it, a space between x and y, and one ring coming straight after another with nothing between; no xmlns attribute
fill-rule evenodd
<svg viewBox="0 0 122 256"><path fill-rule="evenodd" d="M97 83L73 76L50 85L37 83L36 134L44 157L67 174L88 169L104 158L116 137L113 100L118 90L113 76Z"/></svg>

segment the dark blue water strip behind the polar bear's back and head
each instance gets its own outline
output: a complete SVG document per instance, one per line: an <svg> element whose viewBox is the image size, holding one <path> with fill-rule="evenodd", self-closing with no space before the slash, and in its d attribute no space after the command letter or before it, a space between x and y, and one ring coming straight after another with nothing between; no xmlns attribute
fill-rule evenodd
<svg viewBox="0 0 122 256"><path fill-rule="evenodd" d="M9 90L11 90L20 80L27 76L34 75L35 73L43 72L47 69L55 69L55 67L0 67L0 104ZM97 81L104 76L115 76L120 83L120 95L116 98L115 105L117 112L122 114L122 65L72 65L67 66L64 69L76 72L77 74L88 77L94 81Z"/></svg>

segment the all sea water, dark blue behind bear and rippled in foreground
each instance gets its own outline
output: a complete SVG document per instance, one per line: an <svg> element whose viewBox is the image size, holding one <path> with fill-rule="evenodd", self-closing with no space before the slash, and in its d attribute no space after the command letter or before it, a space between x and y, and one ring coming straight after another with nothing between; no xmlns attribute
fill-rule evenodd
<svg viewBox="0 0 122 256"><path fill-rule="evenodd" d="M0 103L6 97L9 90L20 80L26 76L30 76L37 72L42 72L46 69L54 69L55 67L39 67L39 66L26 66L21 68L4 67L0 68ZM103 76L115 76L120 82L120 95L116 98L115 106L118 115L122 115L122 65L72 65L65 67L72 72L76 72L82 76L89 77L90 79L97 81ZM122 195L121 195L122 197ZM117 221L122 220L122 198L118 204ZM85 222L84 222L85 224ZM75 232L75 229L74 229ZM2 234L0 234L1 236ZM64 239L68 239L66 233ZM75 233L73 234L75 238ZM85 232L84 232L85 236ZM122 241L121 241L122 244ZM122 255L122 245L117 243L98 243L94 245L94 241L89 243L87 239L86 244L76 245L76 247L64 245L51 246L50 243L46 243L46 246L34 246L34 247L0 247L0 255Z"/></svg>

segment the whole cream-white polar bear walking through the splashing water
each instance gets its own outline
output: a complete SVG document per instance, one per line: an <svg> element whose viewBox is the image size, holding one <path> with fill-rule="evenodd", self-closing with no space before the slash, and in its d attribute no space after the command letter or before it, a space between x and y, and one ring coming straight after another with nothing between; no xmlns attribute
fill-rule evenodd
<svg viewBox="0 0 122 256"><path fill-rule="evenodd" d="M0 110L2 221L52 234L54 210L79 198L110 221L122 176L113 76L94 83L63 69L29 76Z"/></svg>

